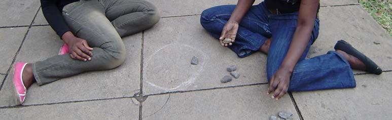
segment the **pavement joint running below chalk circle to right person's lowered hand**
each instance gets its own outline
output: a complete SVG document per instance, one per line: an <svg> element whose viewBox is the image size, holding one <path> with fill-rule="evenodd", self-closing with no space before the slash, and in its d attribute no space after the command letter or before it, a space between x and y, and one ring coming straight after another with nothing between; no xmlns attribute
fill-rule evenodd
<svg viewBox="0 0 392 120"><path fill-rule="evenodd" d="M247 85L239 85L239 86L226 86L226 87L206 88L206 89L188 90L188 91L172 91L172 92L165 92L165 93L150 94L150 95L146 95L146 97L167 95L167 94L177 94L177 93L199 92L199 91L207 91L207 90L219 90L219 89L227 89L227 88L238 88L238 87L247 87L247 86L258 86L258 85L268 85L268 83L247 84Z"/></svg>

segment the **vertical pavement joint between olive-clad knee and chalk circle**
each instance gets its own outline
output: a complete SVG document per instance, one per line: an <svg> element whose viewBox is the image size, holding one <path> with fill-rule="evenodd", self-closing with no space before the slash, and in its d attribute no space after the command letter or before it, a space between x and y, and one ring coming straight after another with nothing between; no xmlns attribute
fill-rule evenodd
<svg viewBox="0 0 392 120"><path fill-rule="evenodd" d="M144 63L144 37L145 37L145 31L143 30L141 32L141 49L140 49L140 83L139 83L139 96L143 97L143 63ZM138 100L137 100L138 101ZM141 120L141 115L142 112L141 110L143 109L143 101L138 101L139 102L139 120Z"/></svg>

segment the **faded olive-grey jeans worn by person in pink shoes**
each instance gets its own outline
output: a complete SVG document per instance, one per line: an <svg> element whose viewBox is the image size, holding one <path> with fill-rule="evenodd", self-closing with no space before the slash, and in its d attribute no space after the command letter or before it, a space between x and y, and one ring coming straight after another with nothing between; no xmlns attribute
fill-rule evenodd
<svg viewBox="0 0 392 120"><path fill-rule="evenodd" d="M81 0L66 5L63 17L72 32L94 49L93 57L86 62L64 54L33 63L38 85L85 71L116 68L126 58L121 37L150 28L160 19L157 8L143 0Z"/></svg>

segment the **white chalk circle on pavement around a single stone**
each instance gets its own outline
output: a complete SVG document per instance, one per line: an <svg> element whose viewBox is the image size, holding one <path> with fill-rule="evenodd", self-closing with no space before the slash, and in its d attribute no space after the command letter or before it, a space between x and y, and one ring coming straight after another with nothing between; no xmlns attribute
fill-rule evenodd
<svg viewBox="0 0 392 120"><path fill-rule="evenodd" d="M193 56L199 60L197 65L191 64ZM205 53L189 45L163 46L147 57L143 82L164 92L185 90L200 76L207 59Z"/></svg>

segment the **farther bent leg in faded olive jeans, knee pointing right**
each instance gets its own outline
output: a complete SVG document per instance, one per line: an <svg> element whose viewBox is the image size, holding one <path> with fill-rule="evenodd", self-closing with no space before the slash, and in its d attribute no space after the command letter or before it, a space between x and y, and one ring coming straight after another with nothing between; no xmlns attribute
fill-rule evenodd
<svg viewBox="0 0 392 120"><path fill-rule="evenodd" d="M103 1L105 15L121 37L152 27L160 19L159 11L144 0Z"/></svg>

